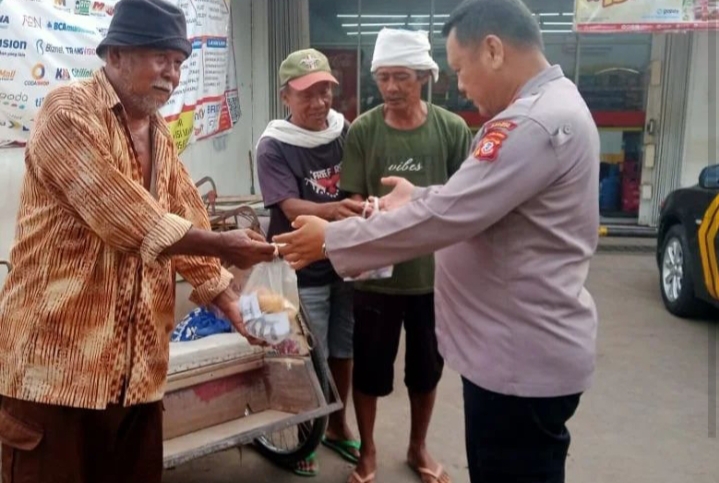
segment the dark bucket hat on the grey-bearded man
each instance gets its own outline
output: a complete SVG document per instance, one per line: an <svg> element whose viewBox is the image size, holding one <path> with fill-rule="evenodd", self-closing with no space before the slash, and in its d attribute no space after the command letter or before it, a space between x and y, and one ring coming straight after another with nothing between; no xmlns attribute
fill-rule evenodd
<svg viewBox="0 0 719 483"><path fill-rule="evenodd" d="M117 2L97 55L102 56L110 46L179 50L185 57L192 54L184 12L165 0Z"/></svg>

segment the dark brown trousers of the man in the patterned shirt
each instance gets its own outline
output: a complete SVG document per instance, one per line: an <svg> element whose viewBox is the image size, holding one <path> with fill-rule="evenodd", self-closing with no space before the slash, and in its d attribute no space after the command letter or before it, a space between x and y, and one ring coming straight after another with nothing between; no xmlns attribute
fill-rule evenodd
<svg viewBox="0 0 719 483"><path fill-rule="evenodd" d="M95 411L1 401L2 483L161 483L161 402Z"/></svg>

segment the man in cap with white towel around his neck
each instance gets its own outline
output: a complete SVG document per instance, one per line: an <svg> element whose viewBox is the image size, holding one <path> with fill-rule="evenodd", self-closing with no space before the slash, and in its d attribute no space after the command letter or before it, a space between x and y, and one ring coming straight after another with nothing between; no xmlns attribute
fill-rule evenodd
<svg viewBox="0 0 719 483"><path fill-rule="evenodd" d="M348 124L331 109L332 76L327 57L314 49L290 54L280 66L286 120L269 123L257 145L257 171L265 207L270 209L268 238L292 230L300 215L341 220L362 214L361 202L340 190L340 161ZM351 386L352 287L327 260L297 273L310 328L337 385L343 409L330 416L324 444L356 463L359 442L347 425L345 409ZM303 476L317 474L314 455L293 468Z"/></svg>

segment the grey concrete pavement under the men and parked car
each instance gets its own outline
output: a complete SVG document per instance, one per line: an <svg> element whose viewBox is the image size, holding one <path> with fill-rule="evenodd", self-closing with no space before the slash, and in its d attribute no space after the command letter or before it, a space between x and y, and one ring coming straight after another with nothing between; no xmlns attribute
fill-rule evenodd
<svg viewBox="0 0 719 483"><path fill-rule="evenodd" d="M598 368L594 387L570 422L574 440L567 481L719 483L719 440L708 436L709 328L719 324L679 320L664 310L651 253L600 252L589 289L600 312ZM404 464L409 411L402 368L400 354L395 393L380 402L377 483L419 481ZM439 389L430 450L454 482L469 482L461 382L449 370ZM245 448L171 470L164 482L346 481L351 466L325 448L318 454L321 475L310 480L278 469Z"/></svg>

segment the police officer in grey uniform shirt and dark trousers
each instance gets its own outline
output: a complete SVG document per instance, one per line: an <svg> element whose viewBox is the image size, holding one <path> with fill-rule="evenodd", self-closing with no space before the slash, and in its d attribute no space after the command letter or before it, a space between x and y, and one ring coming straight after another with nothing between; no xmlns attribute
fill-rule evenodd
<svg viewBox="0 0 719 483"><path fill-rule="evenodd" d="M488 116L443 186L394 190L369 220L296 220L295 266L353 274L436 251L437 338L463 377L471 481L564 481L566 422L592 382L599 135L521 0L471 0L444 26L459 87Z"/></svg>

